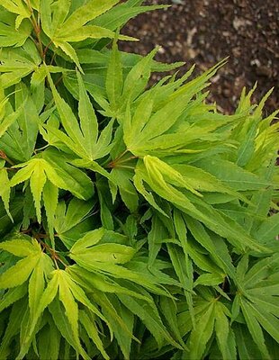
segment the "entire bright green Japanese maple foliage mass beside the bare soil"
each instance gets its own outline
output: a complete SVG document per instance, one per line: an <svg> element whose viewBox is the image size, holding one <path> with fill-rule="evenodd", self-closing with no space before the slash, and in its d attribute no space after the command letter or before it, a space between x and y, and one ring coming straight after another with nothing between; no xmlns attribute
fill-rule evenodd
<svg viewBox="0 0 279 360"><path fill-rule="evenodd" d="M180 64L118 49L141 3L0 3L1 359L279 357L269 93L148 87Z"/></svg>

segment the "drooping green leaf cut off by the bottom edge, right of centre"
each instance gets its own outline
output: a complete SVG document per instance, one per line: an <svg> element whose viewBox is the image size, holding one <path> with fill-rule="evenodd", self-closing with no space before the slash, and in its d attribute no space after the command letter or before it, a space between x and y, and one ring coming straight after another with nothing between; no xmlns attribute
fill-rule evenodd
<svg viewBox="0 0 279 360"><path fill-rule="evenodd" d="M219 358L236 359L236 341L233 330L229 327L230 313L227 307L220 302L219 298L214 298L211 292L204 288L199 288L198 296L194 297L194 319L195 325L191 321L190 311L180 302L176 314L178 331L185 339L184 353L177 353L174 359L202 359L209 355L211 345L214 340L219 348ZM187 310L185 310L187 309ZM156 344L148 339L143 347L143 358L156 358L164 356L171 347L164 344L161 351L156 350ZM180 353L180 355L179 355ZM166 356L166 355L165 355Z"/></svg>

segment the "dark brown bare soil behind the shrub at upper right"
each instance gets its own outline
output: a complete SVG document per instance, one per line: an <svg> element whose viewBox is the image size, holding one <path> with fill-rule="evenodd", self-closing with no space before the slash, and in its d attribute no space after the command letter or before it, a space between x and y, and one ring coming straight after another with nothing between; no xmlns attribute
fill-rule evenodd
<svg viewBox="0 0 279 360"><path fill-rule="evenodd" d="M279 0L147 0L172 7L139 15L121 31L140 39L121 49L145 55L161 45L157 60L184 61L196 71L229 56L212 79L211 100L232 112L243 86L257 81L254 100L275 86L266 114L279 108Z"/></svg>

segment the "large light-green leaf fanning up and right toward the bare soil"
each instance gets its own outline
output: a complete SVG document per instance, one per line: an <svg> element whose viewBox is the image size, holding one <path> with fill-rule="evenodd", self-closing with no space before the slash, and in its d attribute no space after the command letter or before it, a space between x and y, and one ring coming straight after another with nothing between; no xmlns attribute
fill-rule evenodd
<svg viewBox="0 0 279 360"><path fill-rule="evenodd" d="M145 62L148 63L148 61L150 61L151 55L154 56L154 51L151 52L148 57L141 60L140 65L146 67ZM154 101L157 96L156 88L150 94L146 93L141 96L140 102L133 115L130 112L129 103L123 120L123 139L130 152L135 156L144 156L151 155L156 150L174 152L176 149L184 148L189 142L189 140L187 140L187 129L189 130L190 128L190 137L192 135L192 129L189 124L184 121L184 125L178 127L178 130L172 132L168 130L171 130L173 127L175 129L175 122L183 115L193 95L202 91L202 89L208 85L208 79L223 63L224 61L220 62L220 64L212 67L202 74L202 76L181 85L176 91L173 89L172 94L166 94L164 103L161 103L158 109L154 109ZM139 81L137 76L142 77L139 66L131 70L125 80L123 96L126 98L131 96L131 99L134 99L135 95L133 93L137 91L137 94L140 94L144 89L143 87L139 90L137 86L134 87L134 85L132 85L134 82ZM142 81L140 83L142 83ZM208 134L209 131L205 131ZM201 137L201 135L200 133L199 136ZM211 134L211 140L212 139L214 139L213 134Z"/></svg>

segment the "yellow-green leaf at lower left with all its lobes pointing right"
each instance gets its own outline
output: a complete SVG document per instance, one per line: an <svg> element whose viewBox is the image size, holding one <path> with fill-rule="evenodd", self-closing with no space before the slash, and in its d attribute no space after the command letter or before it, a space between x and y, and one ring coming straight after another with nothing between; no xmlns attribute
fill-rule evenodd
<svg viewBox="0 0 279 360"><path fill-rule="evenodd" d="M109 235L109 241L106 240L107 235ZM107 275L115 278L116 281L125 278L132 283L144 286L152 293L168 296L160 284L178 285L178 283L160 269L157 270L157 263L152 269L153 274L150 273L147 257L139 257L133 261L132 257L135 256L136 249L128 246L128 238L126 239L127 245L117 243L118 235L116 232L102 228L88 232L84 238L80 238L74 244L70 251L70 257L76 261L77 265L89 272ZM90 245L92 246L90 247ZM142 277L145 278L144 284Z"/></svg>

